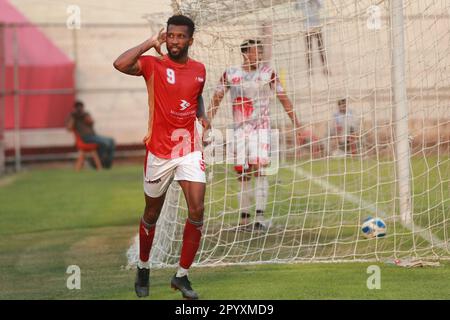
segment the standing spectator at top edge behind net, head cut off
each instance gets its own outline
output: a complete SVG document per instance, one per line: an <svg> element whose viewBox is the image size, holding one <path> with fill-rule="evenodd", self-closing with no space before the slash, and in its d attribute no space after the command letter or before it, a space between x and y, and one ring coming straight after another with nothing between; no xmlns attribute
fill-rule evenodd
<svg viewBox="0 0 450 320"><path fill-rule="evenodd" d="M320 59L323 65L323 74L328 75L327 56L322 37L322 19L320 17L320 9L323 6L323 0L297 0L296 8L303 11L305 40L306 40L306 60L308 63L308 74L312 74L312 53L313 39L317 39L319 47Z"/></svg>

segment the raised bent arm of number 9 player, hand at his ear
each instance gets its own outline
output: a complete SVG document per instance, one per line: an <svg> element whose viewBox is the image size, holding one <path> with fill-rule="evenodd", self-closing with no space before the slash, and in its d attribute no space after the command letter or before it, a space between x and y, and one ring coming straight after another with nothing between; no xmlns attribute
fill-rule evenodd
<svg viewBox="0 0 450 320"><path fill-rule="evenodd" d="M139 63L139 57L151 48L162 55L161 44L166 41L166 33L161 29L158 34L154 35L150 39L142 42L140 45L131 48L122 53L116 61L114 61L114 68L125 74L140 76L142 75L141 64Z"/></svg>

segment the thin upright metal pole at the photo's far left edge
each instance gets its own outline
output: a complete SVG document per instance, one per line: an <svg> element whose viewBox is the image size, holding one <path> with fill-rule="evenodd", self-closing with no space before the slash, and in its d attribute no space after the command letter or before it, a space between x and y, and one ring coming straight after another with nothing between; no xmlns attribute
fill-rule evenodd
<svg viewBox="0 0 450 320"><path fill-rule="evenodd" d="M5 26L0 24L0 176L5 172L5 100L6 100Z"/></svg>

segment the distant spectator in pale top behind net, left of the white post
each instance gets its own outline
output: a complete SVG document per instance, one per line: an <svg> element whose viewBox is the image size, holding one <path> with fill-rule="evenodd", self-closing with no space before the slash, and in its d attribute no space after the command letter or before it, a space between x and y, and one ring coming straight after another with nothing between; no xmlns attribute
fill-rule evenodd
<svg viewBox="0 0 450 320"><path fill-rule="evenodd" d="M358 123L351 110L347 109L347 99L338 100L338 112L333 116L332 136L337 140L339 150L344 154L357 153L356 131Z"/></svg>

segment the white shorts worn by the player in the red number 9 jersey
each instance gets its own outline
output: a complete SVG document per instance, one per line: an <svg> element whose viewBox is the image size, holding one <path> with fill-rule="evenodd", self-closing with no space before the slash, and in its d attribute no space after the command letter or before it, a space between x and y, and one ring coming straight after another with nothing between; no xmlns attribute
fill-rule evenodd
<svg viewBox="0 0 450 320"><path fill-rule="evenodd" d="M147 196L162 196L173 181L206 183L205 161L200 151L175 159L158 158L150 151L144 165L144 192Z"/></svg>

